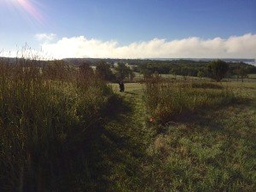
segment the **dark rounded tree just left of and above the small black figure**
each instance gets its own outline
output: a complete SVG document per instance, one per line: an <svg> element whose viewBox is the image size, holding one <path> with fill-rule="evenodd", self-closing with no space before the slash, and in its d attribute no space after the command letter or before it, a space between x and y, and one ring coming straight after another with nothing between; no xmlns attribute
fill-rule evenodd
<svg viewBox="0 0 256 192"><path fill-rule="evenodd" d="M100 61L96 64L96 75L104 80L112 81L115 79L113 72L110 69L110 65L106 61Z"/></svg>

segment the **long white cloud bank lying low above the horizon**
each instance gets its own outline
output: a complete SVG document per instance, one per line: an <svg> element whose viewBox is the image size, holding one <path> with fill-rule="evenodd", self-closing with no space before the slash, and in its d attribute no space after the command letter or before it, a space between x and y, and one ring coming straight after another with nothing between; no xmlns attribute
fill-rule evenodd
<svg viewBox="0 0 256 192"><path fill-rule="evenodd" d="M38 35L47 41L42 44L44 52L54 58L256 58L256 34L247 33L230 38L202 39L197 37L172 41L154 38L119 46L117 41L87 39L84 36L61 38L49 43L55 35Z"/></svg>

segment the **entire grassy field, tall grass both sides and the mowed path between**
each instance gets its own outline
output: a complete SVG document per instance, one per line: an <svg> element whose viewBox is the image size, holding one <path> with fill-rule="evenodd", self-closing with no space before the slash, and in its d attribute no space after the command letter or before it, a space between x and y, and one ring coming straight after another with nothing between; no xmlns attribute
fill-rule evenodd
<svg viewBox="0 0 256 192"><path fill-rule="evenodd" d="M1 191L256 191L255 82L0 67Z"/></svg>

